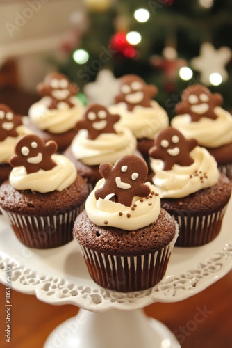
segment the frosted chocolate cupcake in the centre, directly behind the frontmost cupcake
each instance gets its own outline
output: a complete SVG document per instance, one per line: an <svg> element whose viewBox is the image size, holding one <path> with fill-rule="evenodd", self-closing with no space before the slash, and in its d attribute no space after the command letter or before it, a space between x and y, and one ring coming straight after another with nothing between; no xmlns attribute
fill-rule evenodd
<svg viewBox="0 0 232 348"><path fill-rule="evenodd" d="M76 123L78 134L65 150L82 177L92 186L101 179L99 165L103 162L115 164L124 155L135 153L136 139L132 132L119 125L120 116L112 114L100 104L89 105L83 120Z"/></svg>

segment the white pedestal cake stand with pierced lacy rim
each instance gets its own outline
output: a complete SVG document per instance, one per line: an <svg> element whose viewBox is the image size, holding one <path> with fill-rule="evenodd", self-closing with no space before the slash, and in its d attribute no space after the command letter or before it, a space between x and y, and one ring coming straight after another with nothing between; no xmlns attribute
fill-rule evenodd
<svg viewBox="0 0 232 348"><path fill-rule="evenodd" d="M174 248L165 278L141 292L113 292L88 275L75 241L60 248L36 250L23 246L0 216L0 281L51 304L73 304L78 315L60 324L44 348L179 348L166 326L142 308L154 302L176 302L206 289L232 268L230 216L232 200L219 236L205 246ZM48 318L49 320L49 318Z"/></svg>

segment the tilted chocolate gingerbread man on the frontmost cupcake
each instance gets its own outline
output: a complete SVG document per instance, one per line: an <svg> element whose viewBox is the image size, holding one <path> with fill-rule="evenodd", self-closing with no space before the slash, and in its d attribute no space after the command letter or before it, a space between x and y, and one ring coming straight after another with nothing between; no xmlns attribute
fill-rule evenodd
<svg viewBox="0 0 232 348"><path fill-rule="evenodd" d="M151 192L149 186L144 184L147 179L147 164L140 157L126 155L114 166L101 164L99 171L105 182L95 192L96 199L113 200L130 207L135 196L147 197Z"/></svg>

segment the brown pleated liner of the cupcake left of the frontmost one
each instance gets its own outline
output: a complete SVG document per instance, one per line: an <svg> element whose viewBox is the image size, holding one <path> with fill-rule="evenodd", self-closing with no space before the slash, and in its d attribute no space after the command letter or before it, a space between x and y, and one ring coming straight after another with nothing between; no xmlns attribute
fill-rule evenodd
<svg viewBox="0 0 232 348"><path fill-rule="evenodd" d="M84 204L65 214L25 216L2 210L17 239L28 248L47 249L72 241L72 228Z"/></svg>

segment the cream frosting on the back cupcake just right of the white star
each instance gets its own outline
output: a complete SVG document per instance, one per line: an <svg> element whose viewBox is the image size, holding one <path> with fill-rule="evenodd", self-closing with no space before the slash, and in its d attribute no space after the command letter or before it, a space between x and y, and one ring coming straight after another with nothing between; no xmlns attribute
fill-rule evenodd
<svg viewBox="0 0 232 348"><path fill-rule="evenodd" d="M112 105L108 108L111 113L119 113L119 124L131 129L137 139L154 139L157 132L169 125L166 111L154 100L150 108L135 106L128 111L125 103Z"/></svg>

